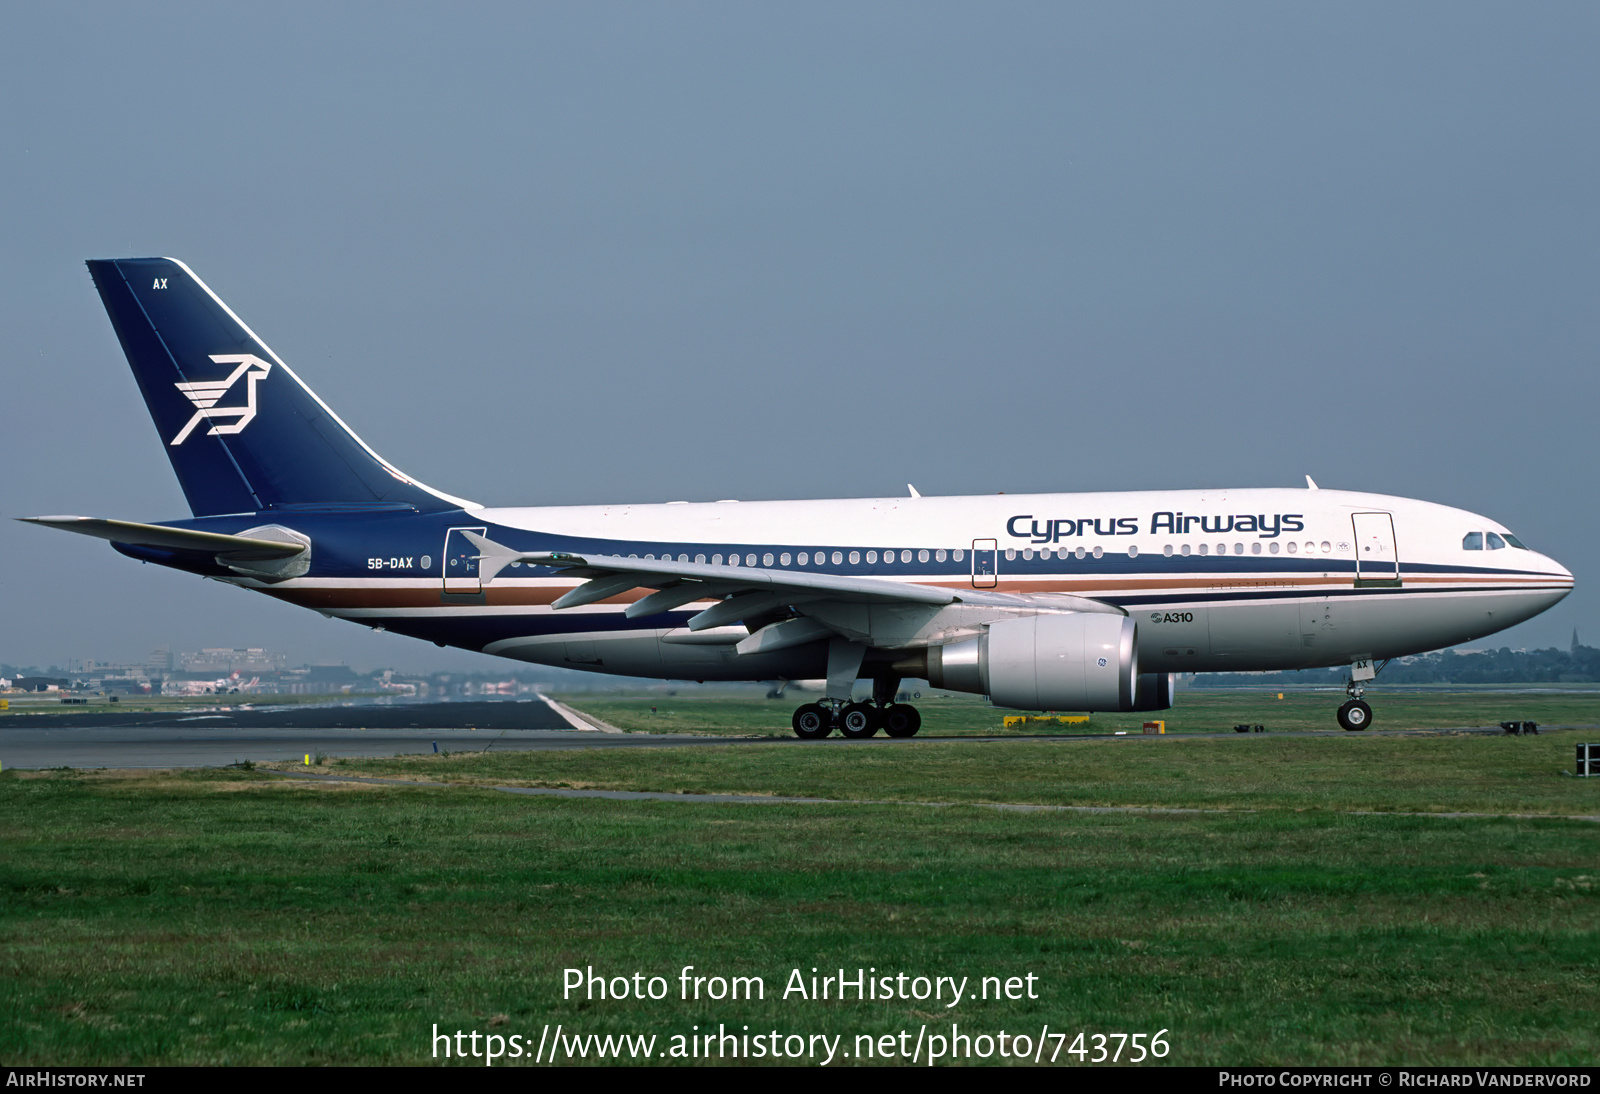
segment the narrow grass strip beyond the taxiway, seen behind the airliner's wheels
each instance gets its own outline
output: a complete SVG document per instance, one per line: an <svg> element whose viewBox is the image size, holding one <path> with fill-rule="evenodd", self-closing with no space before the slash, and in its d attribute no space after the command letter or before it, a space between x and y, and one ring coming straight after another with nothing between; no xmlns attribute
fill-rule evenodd
<svg viewBox="0 0 1600 1094"><path fill-rule="evenodd" d="M1194 688L1179 693L1171 710L1155 713L1098 713L1090 725L1027 726L1005 731L1006 715L1024 713L990 707L976 696L928 691L915 701L922 712L922 736L990 736L1000 733L1139 733L1147 720L1162 718L1168 733L1229 733L1238 723L1264 725L1267 731L1338 733L1334 710L1342 691L1222 691ZM558 694L562 702L629 733L698 733L726 736L792 736L789 717L813 693L790 691L782 699L706 694L690 688L675 696ZM1374 710L1374 729L1443 729L1496 726L1501 721L1600 726L1600 693L1509 689L1382 689L1366 693Z"/></svg>

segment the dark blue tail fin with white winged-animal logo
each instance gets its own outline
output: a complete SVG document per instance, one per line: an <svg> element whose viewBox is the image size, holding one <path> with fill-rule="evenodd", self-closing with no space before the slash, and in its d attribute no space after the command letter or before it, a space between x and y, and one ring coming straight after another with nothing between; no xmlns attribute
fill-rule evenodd
<svg viewBox="0 0 1600 1094"><path fill-rule="evenodd" d="M195 517L470 504L362 443L182 262L88 267Z"/></svg>

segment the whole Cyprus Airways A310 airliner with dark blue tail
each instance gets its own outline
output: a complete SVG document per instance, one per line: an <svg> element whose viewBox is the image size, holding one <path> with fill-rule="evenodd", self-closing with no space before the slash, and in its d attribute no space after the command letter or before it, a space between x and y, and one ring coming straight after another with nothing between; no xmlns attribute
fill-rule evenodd
<svg viewBox="0 0 1600 1094"><path fill-rule="evenodd" d="M1523 622L1573 576L1446 505L1186 489L488 509L368 448L174 259L88 264L192 520L32 517L440 646L677 680L827 678L802 737L922 720L906 678L1163 710L1179 672L1382 662ZM859 678L872 702L853 702Z"/></svg>

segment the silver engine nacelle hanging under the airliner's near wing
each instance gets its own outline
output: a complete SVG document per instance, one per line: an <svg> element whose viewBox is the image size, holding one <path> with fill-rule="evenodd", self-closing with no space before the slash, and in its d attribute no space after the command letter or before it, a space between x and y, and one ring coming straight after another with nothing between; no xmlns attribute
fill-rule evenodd
<svg viewBox="0 0 1600 1094"><path fill-rule="evenodd" d="M928 683L1019 710L1134 710L1134 622L1099 613L1002 619L978 638L928 649Z"/></svg>

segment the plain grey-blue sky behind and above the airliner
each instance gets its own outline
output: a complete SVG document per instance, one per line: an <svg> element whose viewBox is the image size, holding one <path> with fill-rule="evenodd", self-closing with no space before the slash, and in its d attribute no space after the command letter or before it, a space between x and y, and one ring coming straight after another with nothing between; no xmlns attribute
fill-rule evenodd
<svg viewBox="0 0 1600 1094"><path fill-rule="evenodd" d="M1600 641L1600 6L0 8L0 513L187 515L85 258L490 504L1323 486ZM0 661L485 662L0 521Z"/></svg>

